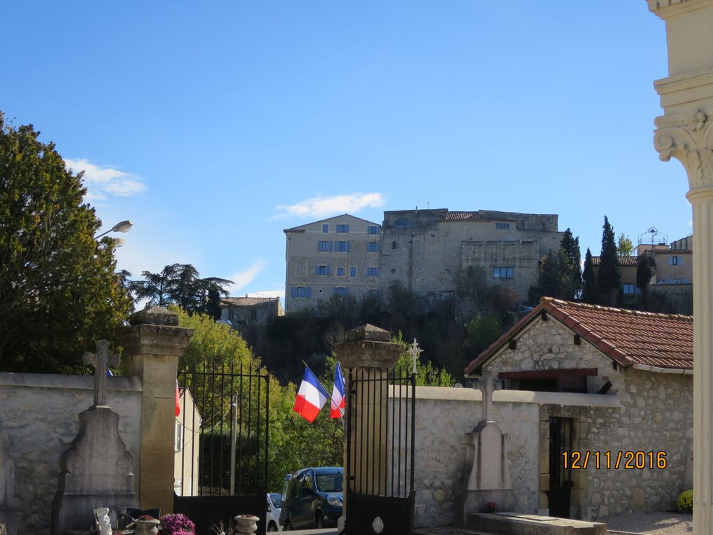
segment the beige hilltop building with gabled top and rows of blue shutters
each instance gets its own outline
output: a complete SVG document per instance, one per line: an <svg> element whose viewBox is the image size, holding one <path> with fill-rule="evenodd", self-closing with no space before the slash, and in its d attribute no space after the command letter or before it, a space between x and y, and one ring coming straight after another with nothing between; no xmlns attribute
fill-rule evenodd
<svg viewBox="0 0 713 535"><path fill-rule="evenodd" d="M381 225L343 214L284 230L284 308L295 312L332 295L379 295Z"/></svg>

